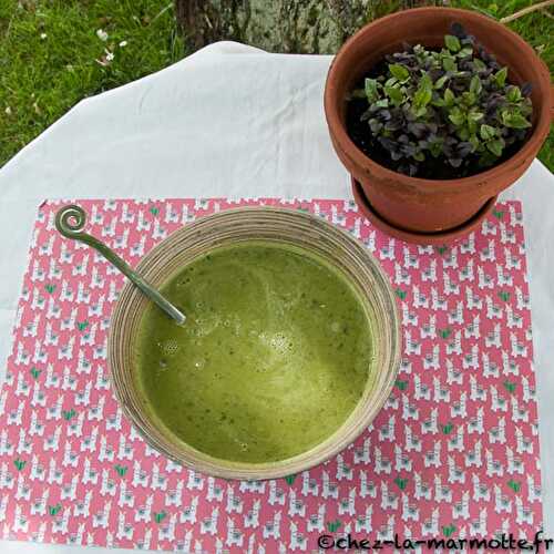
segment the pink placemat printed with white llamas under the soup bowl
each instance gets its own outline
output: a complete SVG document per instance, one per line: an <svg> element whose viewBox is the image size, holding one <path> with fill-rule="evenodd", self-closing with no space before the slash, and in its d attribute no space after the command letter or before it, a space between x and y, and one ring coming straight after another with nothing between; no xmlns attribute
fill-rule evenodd
<svg viewBox="0 0 554 554"><path fill-rule="evenodd" d="M331 534L532 537L542 525L521 206L496 205L448 248L376 230L345 201L82 201L88 230L131 265L195 218L239 205L309 211L381 261L403 361L373 424L334 460L267 482L196 474L122 417L106 368L124 278L39 211L0 397L6 538L184 552L290 552Z"/></svg>

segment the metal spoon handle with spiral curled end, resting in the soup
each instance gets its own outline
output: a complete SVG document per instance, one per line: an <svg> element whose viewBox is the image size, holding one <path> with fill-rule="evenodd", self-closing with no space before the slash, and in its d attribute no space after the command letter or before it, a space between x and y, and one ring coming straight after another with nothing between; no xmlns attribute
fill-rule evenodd
<svg viewBox="0 0 554 554"><path fill-rule="evenodd" d="M138 287L153 302L162 308L170 317L175 319L178 325L183 325L186 316L179 311L173 304L164 298L152 285L141 277L134 269L131 268L125 260L120 258L111 248L98 238L86 233L81 233L86 223L86 214L84 209L74 204L70 204L60 208L55 214L55 228L66 238L80 240L95 250L100 252L104 258L113 264L127 279Z"/></svg>

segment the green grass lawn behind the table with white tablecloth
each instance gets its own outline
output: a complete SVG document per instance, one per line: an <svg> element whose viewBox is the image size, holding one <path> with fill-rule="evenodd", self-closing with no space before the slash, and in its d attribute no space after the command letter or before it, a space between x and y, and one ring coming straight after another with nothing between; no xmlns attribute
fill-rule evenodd
<svg viewBox="0 0 554 554"><path fill-rule="evenodd" d="M398 3L377 2L376 14ZM534 2L449 3L500 19ZM551 17L536 11L509 27L553 72ZM105 40L99 30L107 33ZM171 0L0 0L0 166L81 99L161 70L185 53ZM554 172L554 133L538 157Z"/></svg>

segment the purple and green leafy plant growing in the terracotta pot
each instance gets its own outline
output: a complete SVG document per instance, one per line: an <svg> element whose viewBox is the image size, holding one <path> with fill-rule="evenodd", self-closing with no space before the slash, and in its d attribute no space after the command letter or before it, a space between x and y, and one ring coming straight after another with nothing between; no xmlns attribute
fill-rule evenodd
<svg viewBox="0 0 554 554"><path fill-rule="evenodd" d="M433 160L452 172L490 167L531 127L531 84L510 84L507 68L461 24L451 33L440 50L406 44L387 55L383 71L350 95L367 100L367 132L407 175Z"/></svg>

